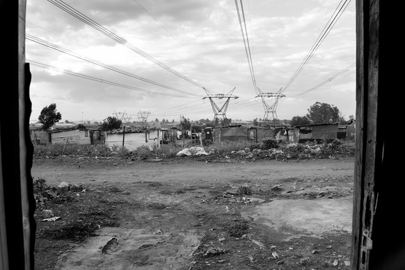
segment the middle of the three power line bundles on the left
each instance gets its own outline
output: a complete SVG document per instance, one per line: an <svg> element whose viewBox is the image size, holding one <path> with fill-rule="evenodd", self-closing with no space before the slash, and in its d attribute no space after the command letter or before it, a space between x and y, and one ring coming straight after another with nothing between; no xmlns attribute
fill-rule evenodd
<svg viewBox="0 0 405 270"><path fill-rule="evenodd" d="M179 93L183 93L183 94L186 94L186 95L193 95L193 96L199 97L199 95L196 95L196 94L193 94L193 93L189 93L189 92L186 92L186 91L182 91L182 90L173 88L173 87L171 87L171 86L166 86L166 85L164 85L164 84L159 84L159 83L157 83L156 81L152 81L152 80L150 80L150 79L145 79L145 78L143 78L143 77L139 77L139 76L137 76L137 75L135 75L135 74L132 74L132 73L127 72L127 71L125 71L125 70L120 70L120 69L117 68L117 67L113 67L113 66L111 66L111 65L107 65L107 64L105 64L105 63L102 63L102 62L100 62L100 61L94 60L94 59L92 59L92 58L88 58L88 57L86 57L86 56L81 56L81 55L75 53L74 51L70 51L69 49L65 49L65 48L63 48L63 47L61 47L61 46L54 45L54 44L52 44L51 42L47 42L46 40L41 40L40 38L37 38L37 37L35 37L35 36L33 36L33 35L26 34L26 39L27 39L27 40L31 40L31 41L33 41L33 42L36 42L36 43L38 43L38 44L40 44L40 45L43 45L43 46L45 46L45 47L48 47L48 48L50 48L50 49L54 49L54 50L56 50L56 51L61 51L61 52L63 52L64 54L68 54L68 55L70 55L70 56L74 56L74 57L76 57L76 58L79 58L79 59L81 59L81 60L87 61L87 62L92 63L92 64L94 64L94 65L99 65L100 67L104 67L104 68L106 68L106 69L108 69L108 70L112 70L112 71L118 72L118 73L123 74L123 75L126 75L126 76L128 76L128 77L132 77L132 78L134 78L134 79L138 79L138 80L141 80L141 81L145 81L145 82L147 82L147 83L149 83L149 84L154 84L155 86L160 86L160 87L163 87L163 88L167 88L167 89L170 89L170 90L173 90L173 91L176 91L176 92L179 92Z"/></svg>

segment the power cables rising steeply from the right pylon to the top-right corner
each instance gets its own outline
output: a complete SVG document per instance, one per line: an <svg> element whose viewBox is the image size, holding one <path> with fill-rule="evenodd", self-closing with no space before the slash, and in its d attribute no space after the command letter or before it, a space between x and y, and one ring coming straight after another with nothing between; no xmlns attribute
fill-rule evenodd
<svg viewBox="0 0 405 270"><path fill-rule="evenodd" d="M344 1L344 3L342 3L343 1ZM324 41L324 39L329 34L329 32L331 31L333 26L336 24L337 19L339 19L340 16L342 15L342 13L344 12L344 10L346 10L346 8L349 5L350 1L351 0L342 0L342 1L340 1L340 3L337 5L337 8L335 8L335 11L331 15L331 18L329 18L328 22L326 23L326 26L324 26L324 29L322 29L322 31L319 34L317 40L315 40L314 45L312 45L310 51L308 52L308 54L303 59L301 65L299 65L298 69L296 70L296 72L294 72L294 74L292 75L291 79L289 79L287 84L283 88L280 89L280 92L282 90L283 91L286 90L294 82L296 77L299 76L299 74L301 73L301 71L303 70L305 65L307 65L308 61L310 61L310 58L312 58L312 56L315 54L315 51L317 51L317 49L319 48L321 43Z"/></svg>

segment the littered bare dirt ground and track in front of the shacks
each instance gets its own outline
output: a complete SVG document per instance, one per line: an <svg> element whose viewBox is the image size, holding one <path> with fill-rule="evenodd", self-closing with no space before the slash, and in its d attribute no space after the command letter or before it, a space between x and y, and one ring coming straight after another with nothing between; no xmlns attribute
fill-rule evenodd
<svg viewBox="0 0 405 270"><path fill-rule="evenodd" d="M350 269L354 157L58 157L31 174L37 270Z"/></svg>

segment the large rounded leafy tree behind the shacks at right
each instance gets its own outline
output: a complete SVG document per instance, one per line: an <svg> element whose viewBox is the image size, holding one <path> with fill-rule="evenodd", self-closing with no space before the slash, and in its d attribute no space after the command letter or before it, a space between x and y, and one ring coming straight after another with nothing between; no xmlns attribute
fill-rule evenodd
<svg viewBox="0 0 405 270"><path fill-rule="evenodd" d="M338 122L340 120L340 112L336 106L315 102L315 104L308 109L306 117L315 124Z"/></svg>

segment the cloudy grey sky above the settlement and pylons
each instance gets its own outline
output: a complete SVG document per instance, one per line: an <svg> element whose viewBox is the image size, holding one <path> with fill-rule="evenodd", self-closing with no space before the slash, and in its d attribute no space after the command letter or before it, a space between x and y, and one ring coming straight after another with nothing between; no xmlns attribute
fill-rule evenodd
<svg viewBox="0 0 405 270"><path fill-rule="evenodd" d="M51 103L61 122L212 119L204 88L235 88L226 116L253 120L265 113L255 86L281 89L278 119L321 102L348 120L356 114L355 10L344 0L27 0L30 122ZM213 100L221 107L226 99Z"/></svg>

